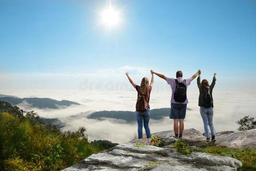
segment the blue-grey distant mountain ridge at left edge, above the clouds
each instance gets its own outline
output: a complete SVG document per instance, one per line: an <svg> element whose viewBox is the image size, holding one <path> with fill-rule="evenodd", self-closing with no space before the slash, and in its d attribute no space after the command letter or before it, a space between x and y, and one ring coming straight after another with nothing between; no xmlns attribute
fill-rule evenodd
<svg viewBox="0 0 256 171"><path fill-rule="evenodd" d="M61 107L69 107L70 105L80 105L74 101L69 100L54 100L50 98L39 98L39 97L30 97L30 98L19 98L14 96L0 96L0 101L6 101L12 105L18 105L23 102L26 102L30 107L34 108L49 108L49 109L58 109Z"/></svg>

